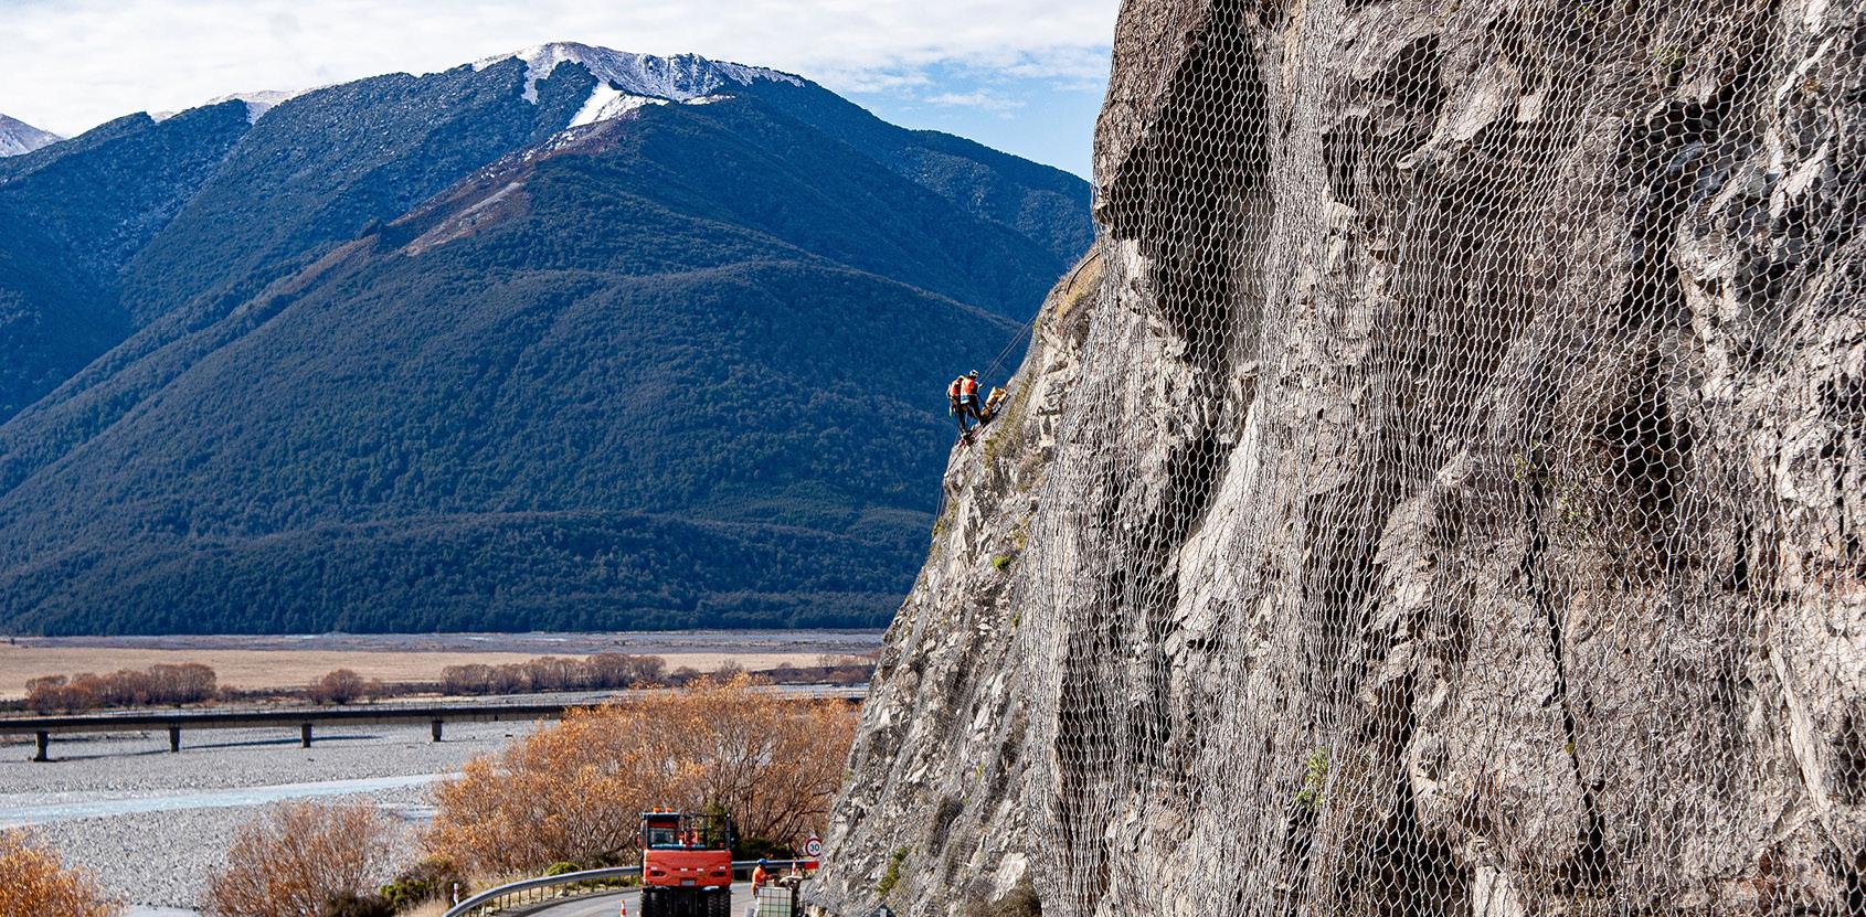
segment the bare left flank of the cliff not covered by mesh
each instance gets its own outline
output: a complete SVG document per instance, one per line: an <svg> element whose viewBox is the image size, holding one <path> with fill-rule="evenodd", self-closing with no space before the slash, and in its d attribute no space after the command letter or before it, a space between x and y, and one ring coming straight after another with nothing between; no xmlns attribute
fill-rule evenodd
<svg viewBox="0 0 1866 917"><path fill-rule="evenodd" d="M1045 298L1004 410L952 453L933 548L862 706L819 904L868 913L886 898L948 913L1030 885L1036 787L1023 759L1011 580L1030 550L1099 281L1090 252Z"/></svg>

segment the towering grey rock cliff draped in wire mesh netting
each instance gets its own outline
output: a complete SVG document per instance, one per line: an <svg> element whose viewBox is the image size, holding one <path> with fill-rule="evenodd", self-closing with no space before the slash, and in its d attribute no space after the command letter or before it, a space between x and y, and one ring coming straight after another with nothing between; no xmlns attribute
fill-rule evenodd
<svg viewBox="0 0 1866 917"><path fill-rule="evenodd" d="M819 902L1866 913L1860 4L1114 48L1028 542L937 535Z"/></svg>

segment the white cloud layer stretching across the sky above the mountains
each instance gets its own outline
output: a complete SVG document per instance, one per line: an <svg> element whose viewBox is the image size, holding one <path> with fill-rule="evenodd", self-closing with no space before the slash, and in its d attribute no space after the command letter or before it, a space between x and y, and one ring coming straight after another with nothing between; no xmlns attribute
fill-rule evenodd
<svg viewBox="0 0 1866 917"><path fill-rule="evenodd" d="M545 41L690 50L836 91L920 89L933 65L1086 84L1107 78L1116 11L1118 0L0 0L0 112L75 134L231 91L431 73Z"/></svg>

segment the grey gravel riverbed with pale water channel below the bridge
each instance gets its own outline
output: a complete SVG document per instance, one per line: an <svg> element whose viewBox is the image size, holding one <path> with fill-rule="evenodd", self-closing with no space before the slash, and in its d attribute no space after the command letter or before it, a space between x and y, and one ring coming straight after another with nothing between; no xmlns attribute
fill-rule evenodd
<svg viewBox="0 0 1866 917"><path fill-rule="evenodd" d="M58 736L54 760L43 764L28 760L30 742L0 744L0 826L30 826L125 902L187 910L198 906L233 831L274 800L379 805L409 826L399 859L411 859L412 833L431 816L429 783L420 777L453 773L528 729L448 723L446 742L435 744L422 723L330 727L308 749L295 731L198 731L183 732L179 755L168 753L164 732Z"/></svg>

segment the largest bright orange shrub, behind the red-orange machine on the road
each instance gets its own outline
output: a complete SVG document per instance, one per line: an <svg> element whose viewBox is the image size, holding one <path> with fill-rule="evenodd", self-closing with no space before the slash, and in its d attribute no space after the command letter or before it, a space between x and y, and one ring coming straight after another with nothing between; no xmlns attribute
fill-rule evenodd
<svg viewBox="0 0 1866 917"><path fill-rule="evenodd" d="M746 675L575 710L435 790L429 855L478 874L620 861L644 809L724 805L741 837L799 844L842 783L855 710Z"/></svg>

